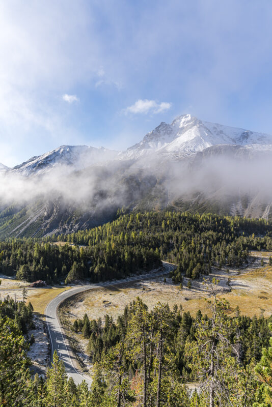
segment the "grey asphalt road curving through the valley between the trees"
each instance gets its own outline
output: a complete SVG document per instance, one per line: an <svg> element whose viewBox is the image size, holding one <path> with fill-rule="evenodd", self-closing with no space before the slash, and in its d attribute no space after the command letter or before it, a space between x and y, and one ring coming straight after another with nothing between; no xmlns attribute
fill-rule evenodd
<svg viewBox="0 0 272 407"><path fill-rule="evenodd" d="M95 289L98 287L105 287L107 285L118 285L129 281L136 281L136 280L145 280L152 277L158 277L164 274L168 274L170 271L174 270L175 266L172 264L166 263L165 261L162 262L164 265L164 270L152 274L147 274L144 276L133 276L127 277L122 280L116 281L107 281L107 282L100 282L97 284L89 284L89 285L80 285L74 288L71 288L67 291L62 292L56 298L49 302L45 309L45 317L46 317L46 325L49 334L50 344L51 344L51 358L53 352L57 350L60 359L63 360L65 369L67 371L68 376L71 376L75 382L75 384L81 383L83 380L87 382L88 385L91 384L91 379L89 376L85 375L84 373L80 372L76 367L75 363L75 356L72 353L71 347L68 343L64 330L61 327L59 318L58 318L58 307L60 304L69 297L77 293L81 293L83 291Z"/></svg>

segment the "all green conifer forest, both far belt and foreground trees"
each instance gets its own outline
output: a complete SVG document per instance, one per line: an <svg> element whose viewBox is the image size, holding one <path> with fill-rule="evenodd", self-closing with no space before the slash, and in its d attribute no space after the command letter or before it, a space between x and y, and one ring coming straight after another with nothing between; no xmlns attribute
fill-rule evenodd
<svg viewBox="0 0 272 407"><path fill-rule="evenodd" d="M58 244L62 242L62 245ZM140 299L117 319L74 319L87 340L92 384L75 384L55 352L45 375L33 374L28 350L33 306L0 303L0 405L39 407L264 407L272 405L272 315L249 317L217 297L211 268L246 267L251 250L272 250L266 220L213 214L124 214L71 235L0 242L1 273L47 284L99 283L148 273L167 260L174 284L203 281L209 312ZM269 258L269 264L272 260ZM35 328L35 327L34 327ZM191 386L188 387L188 384Z"/></svg>

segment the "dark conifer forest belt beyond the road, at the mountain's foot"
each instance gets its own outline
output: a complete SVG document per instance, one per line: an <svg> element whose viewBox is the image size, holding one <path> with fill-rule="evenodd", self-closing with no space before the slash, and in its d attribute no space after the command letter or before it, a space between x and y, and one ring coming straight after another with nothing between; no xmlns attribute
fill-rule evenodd
<svg viewBox="0 0 272 407"><path fill-rule="evenodd" d="M173 280L180 282L183 274L198 278L208 274L211 266L247 263L251 249L272 249L271 236L272 226L264 219L169 211L131 213L71 235L0 242L4 251L1 272L48 283L101 281L146 272L159 267L161 260L169 260L177 265ZM52 244L56 240L68 244Z"/></svg>

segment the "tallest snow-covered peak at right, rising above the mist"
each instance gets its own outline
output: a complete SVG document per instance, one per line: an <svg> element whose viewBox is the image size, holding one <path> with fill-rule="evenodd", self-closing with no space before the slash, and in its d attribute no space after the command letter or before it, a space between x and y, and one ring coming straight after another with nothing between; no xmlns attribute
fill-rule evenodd
<svg viewBox="0 0 272 407"><path fill-rule="evenodd" d="M203 122L185 114L177 117L171 124L161 123L147 133L140 143L130 147L124 156L137 158L150 153L168 153L184 157L218 144L271 150L272 136Z"/></svg>

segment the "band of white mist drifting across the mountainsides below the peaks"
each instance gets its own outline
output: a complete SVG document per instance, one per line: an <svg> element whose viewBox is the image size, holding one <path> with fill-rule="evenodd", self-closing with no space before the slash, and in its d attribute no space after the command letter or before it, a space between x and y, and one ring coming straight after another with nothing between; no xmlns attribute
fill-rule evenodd
<svg viewBox="0 0 272 407"><path fill-rule="evenodd" d="M272 202L271 170L270 154L197 155L185 159L154 155L135 161L99 162L83 170L63 165L41 176L0 174L0 200L3 210L13 202L40 198L53 201L61 197L67 208L90 213L94 208L98 212L122 206L133 208L142 199L146 209L152 209L158 201L163 201L164 206L175 199L193 202L200 193L211 203L228 202L231 212L232 202L238 208L241 198L247 196L246 206L254 204L258 208L254 214L259 217ZM162 196L166 198L162 200ZM246 206L243 201L243 208L237 213L252 215L246 212Z"/></svg>

